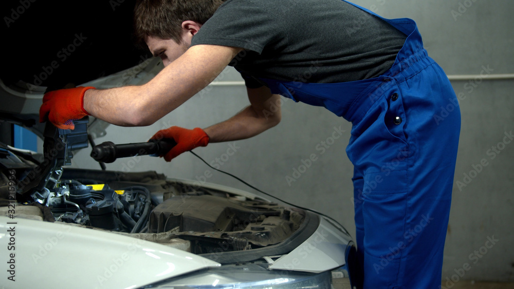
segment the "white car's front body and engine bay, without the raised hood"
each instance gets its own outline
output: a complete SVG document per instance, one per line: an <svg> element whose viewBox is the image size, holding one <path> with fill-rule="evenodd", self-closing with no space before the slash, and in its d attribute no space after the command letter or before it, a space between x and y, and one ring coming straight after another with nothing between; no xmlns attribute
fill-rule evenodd
<svg viewBox="0 0 514 289"><path fill-rule="evenodd" d="M1 145L5 288L330 288L334 269L348 277L355 248L331 219L153 171L66 168L88 142L87 120L75 125L47 123L43 155Z"/></svg>

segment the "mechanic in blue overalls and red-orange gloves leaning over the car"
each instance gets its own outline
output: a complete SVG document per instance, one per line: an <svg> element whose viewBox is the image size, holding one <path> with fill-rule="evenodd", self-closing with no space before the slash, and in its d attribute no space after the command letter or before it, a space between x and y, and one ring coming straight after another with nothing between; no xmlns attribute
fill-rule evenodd
<svg viewBox="0 0 514 289"><path fill-rule="evenodd" d="M141 86L49 92L41 121L150 125L234 66L250 105L205 129L159 131L153 138L177 143L166 161L277 125L280 111L265 112L280 95L324 106L353 125L355 285L440 287L461 119L456 109L434 120L456 97L412 20L341 0L142 0L135 27L166 67Z"/></svg>

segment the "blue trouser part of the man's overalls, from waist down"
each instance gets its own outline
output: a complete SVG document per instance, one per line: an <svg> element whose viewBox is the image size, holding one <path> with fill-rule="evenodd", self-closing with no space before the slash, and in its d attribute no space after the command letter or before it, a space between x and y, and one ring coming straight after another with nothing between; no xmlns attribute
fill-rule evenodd
<svg viewBox="0 0 514 289"><path fill-rule="evenodd" d="M379 93L347 148L364 288L439 288L460 131L456 97L436 64ZM444 118L441 107L450 111Z"/></svg>

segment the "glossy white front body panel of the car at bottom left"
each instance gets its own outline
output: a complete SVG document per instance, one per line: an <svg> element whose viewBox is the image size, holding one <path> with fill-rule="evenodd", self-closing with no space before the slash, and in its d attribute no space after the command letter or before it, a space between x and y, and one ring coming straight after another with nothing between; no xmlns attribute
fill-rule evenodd
<svg viewBox="0 0 514 289"><path fill-rule="evenodd" d="M6 288L138 288L221 266L176 248L61 222L1 216L0 232L7 249L0 262L14 267L14 282L8 280L12 272L0 273Z"/></svg>

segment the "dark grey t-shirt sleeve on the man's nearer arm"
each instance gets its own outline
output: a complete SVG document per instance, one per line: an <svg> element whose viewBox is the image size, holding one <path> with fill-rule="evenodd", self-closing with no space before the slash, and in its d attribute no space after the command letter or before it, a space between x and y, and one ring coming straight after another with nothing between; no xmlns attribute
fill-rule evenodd
<svg viewBox="0 0 514 289"><path fill-rule="evenodd" d="M261 54L265 46L285 37L277 11L252 0L228 0L193 36L191 45L240 47Z"/></svg>

